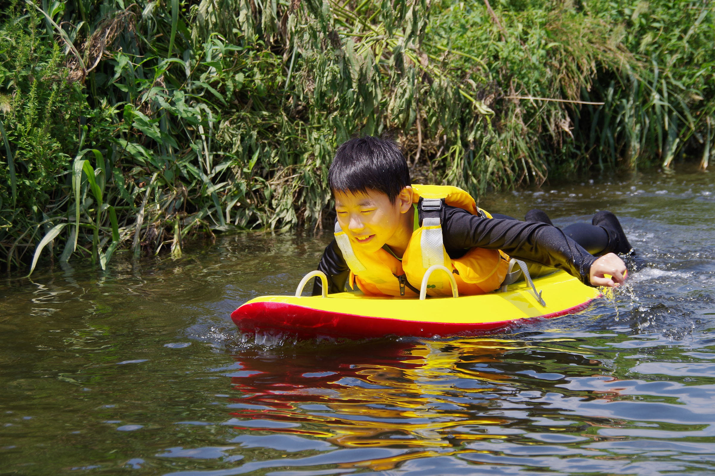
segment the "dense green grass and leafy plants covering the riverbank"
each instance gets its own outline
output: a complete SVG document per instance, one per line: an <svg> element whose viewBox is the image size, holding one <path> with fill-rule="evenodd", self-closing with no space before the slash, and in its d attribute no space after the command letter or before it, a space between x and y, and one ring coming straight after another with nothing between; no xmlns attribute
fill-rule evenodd
<svg viewBox="0 0 715 476"><path fill-rule="evenodd" d="M322 226L332 151L393 131L415 181L709 165L709 2L18 1L1 13L0 260L181 254Z"/></svg>

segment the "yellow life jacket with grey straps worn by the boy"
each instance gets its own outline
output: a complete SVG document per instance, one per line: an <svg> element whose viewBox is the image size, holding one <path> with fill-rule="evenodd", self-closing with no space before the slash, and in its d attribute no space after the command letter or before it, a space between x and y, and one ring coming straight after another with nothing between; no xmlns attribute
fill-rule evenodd
<svg viewBox="0 0 715 476"><path fill-rule="evenodd" d="M443 245L439 218L443 203L473 215L492 218L491 215L480 210L474 198L461 188L439 185L413 185L412 188L414 203L423 199L420 208L424 218L422 226L413 231L401 261L385 248L375 253L353 248L340 224L335 223L335 241L350 268L350 286L354 289L358 285L366 295L415 296L425 271L439 264L452 270L460 295L489 293L498 288L508 272L509 257L501 250L475 247L461 258L450 258ZM445 273L438 271L430 275L427 293L432 296L452 294Z"/></svg>

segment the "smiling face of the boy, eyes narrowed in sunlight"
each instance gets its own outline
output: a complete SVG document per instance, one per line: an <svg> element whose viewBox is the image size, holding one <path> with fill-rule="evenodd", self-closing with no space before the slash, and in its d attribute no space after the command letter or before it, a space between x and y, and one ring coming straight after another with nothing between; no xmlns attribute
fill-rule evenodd
<svg viewBox="0 0 715 476"><path fill-rule="evenodd" d="M350 243L365 253L374 253L400 236L405 227L404 213L412 207L412 188L405 187L390 203L385 193L368 190L367 193L335 192L335 211ZM411 225L411 223L409 223ZM408 233L412 233L410 228ZM409 236L409 235L408 235Z"/></svg>

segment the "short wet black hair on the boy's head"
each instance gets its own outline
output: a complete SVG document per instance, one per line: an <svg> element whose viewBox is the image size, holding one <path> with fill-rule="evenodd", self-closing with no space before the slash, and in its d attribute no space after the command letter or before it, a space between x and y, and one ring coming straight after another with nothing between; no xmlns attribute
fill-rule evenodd
<svg viewBox="0 0 715 476"><path fill-rule="evenodd" d="M400 191L411 185L403 148L389 134L353 137L340 144L327 181L333 193L371 189L385 193L393 204Z"/></svg>

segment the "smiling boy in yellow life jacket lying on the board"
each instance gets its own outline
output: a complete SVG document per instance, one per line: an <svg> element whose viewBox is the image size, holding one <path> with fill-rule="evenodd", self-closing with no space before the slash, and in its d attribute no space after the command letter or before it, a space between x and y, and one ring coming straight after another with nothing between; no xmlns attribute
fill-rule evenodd
<svg viewBox="0 0 715 476"><path fill-rule="evenodd" d="M335 240L318 265L328 293L359 288L368 295L415 296L435 263L452 270L460 295L488 293L503 283L510 257L565 270L587 285L623 283L626 265L615 253L628 253L631 245L613 213L599 212L592 225L563 231L538 210L527 221L490 216L459 188L413 186L403 152L390 138L342 143L328 181ZM428 294L450 294L444 274L430 276ZM316 279L313 295L321 291Z"/></svg>

